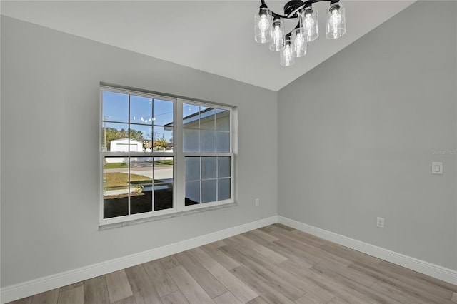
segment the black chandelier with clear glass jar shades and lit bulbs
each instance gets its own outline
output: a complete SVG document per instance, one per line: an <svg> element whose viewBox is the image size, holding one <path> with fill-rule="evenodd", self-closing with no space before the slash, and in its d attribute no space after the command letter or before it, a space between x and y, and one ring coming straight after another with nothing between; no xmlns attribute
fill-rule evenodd
<svg viewBox="0 0 457 304"><path fill-rule="evenodd" d="M259 44L269 43L271 51L280 52L281 66L291 66L295 58L306 55L306 44L319 36L317 9L313 4L330 1L326 11L326 36L337 39L346 33L344 6L338 0L292 0L284 6L284 14L276 14L261 0L260 10L254 17L254 34ZM284 20L298 19L295 28L286 33Z"/></svg>

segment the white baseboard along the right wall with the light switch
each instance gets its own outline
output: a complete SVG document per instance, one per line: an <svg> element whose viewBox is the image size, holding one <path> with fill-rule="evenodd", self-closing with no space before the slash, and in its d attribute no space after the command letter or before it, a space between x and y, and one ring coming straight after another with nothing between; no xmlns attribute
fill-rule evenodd
<svg viewBox="0 0 457 304"><path fill-rule="evenodd" d="M353 238L348 238L337 233L330 232L328 230L323 230L321 228L316 228L314 226L301 223L290 218L284 218L283 216L278 216L278 223L284 224L291 228L301 230L303 232L316 235L319 238L325 240L330 240L333 243L337 243L353 250L372 255L376 258L381 258L388 262L394 263L396 265L403 266L405 268L415 270L418 273L423 273L425 275L430 275L433 278L443 280L445 282L457 285L457 271L444 268L439 265L428 263L423 260L418 260L417 258L412 258L408 255L403 255L401 253L396 253L391 250L387 250L375 245L368 243L363 243L360 240L354 240Z"/></svg>

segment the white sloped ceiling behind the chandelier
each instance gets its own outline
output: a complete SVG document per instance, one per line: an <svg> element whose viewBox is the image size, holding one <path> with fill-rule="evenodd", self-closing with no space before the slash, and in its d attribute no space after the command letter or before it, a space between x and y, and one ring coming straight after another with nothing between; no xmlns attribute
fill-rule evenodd
<svg viewBox="0 0 457 304"><path fill-rule="evenodd" d="M260 1L1 1L1 14L153 56L273 91L291 83L390 19L414 1L341 1L346 35L325 38L328 1L319 11L320 37L293 66L253 39ZM268 1L281 14L286 1Z"/></svg>

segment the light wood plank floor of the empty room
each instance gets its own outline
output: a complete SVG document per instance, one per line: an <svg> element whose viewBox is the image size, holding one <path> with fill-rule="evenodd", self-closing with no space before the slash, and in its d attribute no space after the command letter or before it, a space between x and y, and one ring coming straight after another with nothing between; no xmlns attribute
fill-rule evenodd
<svg viewBox="0 0 457 304"><path fill-rule="evenodd" d="M457 303L457 286L281 224L13 302Z"/></svg>

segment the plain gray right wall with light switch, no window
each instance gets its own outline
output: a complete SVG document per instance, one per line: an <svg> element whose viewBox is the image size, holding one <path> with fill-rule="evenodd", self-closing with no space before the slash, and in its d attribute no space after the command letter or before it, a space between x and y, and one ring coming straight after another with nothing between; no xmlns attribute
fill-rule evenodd
<svg viewBox="0 0 457 304"><path fill-rule="evenodd" d="M278 92L279 216L457 270L456 12L418 1Z"/></svg>

